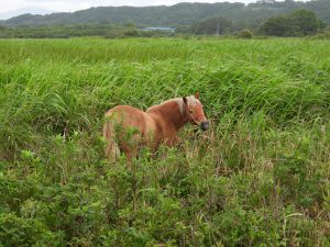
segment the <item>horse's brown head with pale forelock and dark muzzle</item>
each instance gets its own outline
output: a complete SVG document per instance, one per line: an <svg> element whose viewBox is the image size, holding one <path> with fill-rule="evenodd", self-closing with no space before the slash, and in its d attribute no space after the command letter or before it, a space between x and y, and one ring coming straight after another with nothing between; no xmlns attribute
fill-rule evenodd
<svg viewBox="0 0 330 247"><path fill-rule="evenodd" d="M202 131L209 128L209 121L205 116L202 104L199 101L199 93L196 92L195 97L184 97L184 113L187 115L191 124L200 126Z"/></svg>

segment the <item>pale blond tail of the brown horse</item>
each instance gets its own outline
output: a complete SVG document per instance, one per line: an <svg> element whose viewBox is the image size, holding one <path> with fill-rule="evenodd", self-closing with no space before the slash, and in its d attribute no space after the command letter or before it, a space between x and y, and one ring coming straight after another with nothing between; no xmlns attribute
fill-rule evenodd
<svg viewBox="0 0 330 247"><path fill-rule="evenodd" d="M116 142L116 132L113 124L111 124L109 120L106 120L106 123L103 125L103 137L107 142L105 155L108 160L116 161L116 159L120 156L120 150L118 143Z"/></svg>

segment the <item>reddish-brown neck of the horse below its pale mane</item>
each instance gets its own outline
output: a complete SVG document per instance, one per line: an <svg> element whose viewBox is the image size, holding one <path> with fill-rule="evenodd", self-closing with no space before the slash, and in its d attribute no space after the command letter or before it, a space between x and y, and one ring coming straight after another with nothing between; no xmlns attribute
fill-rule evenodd
<svg viewBox="0 0 330 247"><path fill-rule="evenodd" d="M188 119L182 113L178 103L175 101L153 108L150 112L160 115L162 121L173 125L176 131L188 122Z"/></svg>

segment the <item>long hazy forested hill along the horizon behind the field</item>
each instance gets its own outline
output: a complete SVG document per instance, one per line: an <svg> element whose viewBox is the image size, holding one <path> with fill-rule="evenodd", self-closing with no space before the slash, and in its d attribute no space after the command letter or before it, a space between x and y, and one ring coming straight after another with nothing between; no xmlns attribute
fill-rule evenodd
<svg viewBox="0 0 330 247"><path fill-rule="evenodd" d="M238 0L239 1L239 0ZM315 0L295 2L286 0L276 2L262 0L258 3L178 3L157 7L99 7L73 13L53 13L46 15L23 14L7 21L2 25L53 25L82 23L135 23L136 25L176 26L189 25L209 16L223 16L234 22L237 26L255 26L260 21L278 14L288 13L295 9L307 8L317 16L330 23L330 1Z"/></svg>

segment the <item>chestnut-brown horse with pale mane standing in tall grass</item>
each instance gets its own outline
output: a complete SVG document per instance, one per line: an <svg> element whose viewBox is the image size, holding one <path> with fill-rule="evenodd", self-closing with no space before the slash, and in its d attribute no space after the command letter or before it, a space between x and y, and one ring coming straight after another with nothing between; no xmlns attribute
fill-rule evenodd
<svg viewBox="0 0 330 247"><path fill-rule="evenodd" d="M186 123L208 130L209 122L202 111L199 93L167 100L145 112L130 105L118 105L106 113L103 136L106 156L114 161L123 151L128 159L138 156L144 145L156 150L160 144L173 146L178 142L177 132Z"/></svg>

